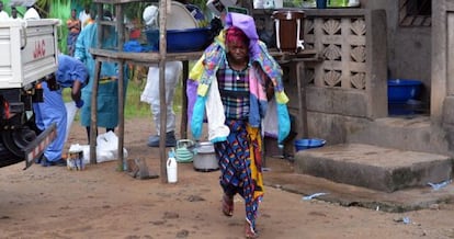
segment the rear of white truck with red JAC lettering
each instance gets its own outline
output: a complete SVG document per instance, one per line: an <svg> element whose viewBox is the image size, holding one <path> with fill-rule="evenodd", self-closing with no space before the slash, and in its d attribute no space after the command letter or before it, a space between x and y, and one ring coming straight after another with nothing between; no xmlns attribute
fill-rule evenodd
<svg viewBox="0 0 454 239"><path fill-rule="evenodd" d="M29 168L54 140L56 126L37 129L33 102L41 82L57 70L60 20L0 21L0 167Z"/></svg>

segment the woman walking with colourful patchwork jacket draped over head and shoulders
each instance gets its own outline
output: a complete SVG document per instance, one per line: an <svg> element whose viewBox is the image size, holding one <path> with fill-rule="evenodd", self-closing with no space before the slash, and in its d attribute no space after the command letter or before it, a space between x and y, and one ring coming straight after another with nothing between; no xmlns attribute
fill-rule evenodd
<svg viewBox="0 0 454 239"><path fill-rule="evenodd" d="M220 169L222 212L231 217L234 196L239 194L246 207L245 236L257 238L256 219L264 193L261 121L266 114L276 116L280 144L291 126L282 69L259 41L254 20L227 13L225 31L191 71L201 72L191 132L194 139L201 138L206 112L208 139ZM268 111L272 103L275 111Z"/></svg>

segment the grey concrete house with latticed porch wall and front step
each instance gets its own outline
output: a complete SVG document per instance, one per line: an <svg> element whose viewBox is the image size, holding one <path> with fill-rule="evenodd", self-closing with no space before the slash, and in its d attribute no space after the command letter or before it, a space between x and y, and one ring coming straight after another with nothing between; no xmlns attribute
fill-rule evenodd
<svg viewBox="0 0 454 239"><path fill-rule="evenodd" d="M387 149L398 153L433 153L433 157L424 155L422 161L428 164L419 171L415 167L418 160L389 157L396 162L406 161L407 164L397 168L409 173L398 172L390 175L393 179L384 177L383 183L378 184L386 186L379 190L393 191L424 185L428 180L451 178L454 156L454 49L451 47L454 45L454 34L451 33L454 0L360 2L360 8L294 9L303 10L306 15L303 30L305 48L315 49L321 58L297 68L304 76L300 79L295 79L292 73L285 75L292 112L303 110L307 117L297 118L297 124L307 124L307 132L299 130L298 137L324 138L328 147L336 147L332 148L338 150L336 152L342 145L345 146L342 150L357 150L357 155L349 155L347 161L367 155L367 159L376 163L389 155L377 153L382 157L379 159L368 156L377 151L386 152ZM270 11L254 10L254 13L259 15L259 32L273 29ZM404 113L394 113L395 105L388 104L388 79L422 82L421 94L412 104L406 104ZM296 80L302 81L303 94L297 94L297 89L293 87ZM303 103L298 104L298 101ZM367 150L351 145L366 145ZM373 152L374 149L368 146L377 147L377 150ZM338 170L347 171L340 173L345 175L344 179L332 179L332 172L337 169L329 168L329 164L339 157L328 150L325 149L324 156L299 151L296 153L296 170L367 187L367 184L351 180L362 169L349 173L351 167L334 163ZM315 158L317 167L314 167ZM327 160L327 163L320 164L320 160ZM367 164L364 160L360 161ZM393 167L391 171L396 168ZM326 171L321 172L322 169ZM383 175L389 169L382 168ZM401 177L404 174L406 177ZM386 180L395 180L391 182L394 185ZM373 184L377 183L370 183L368 186L373 187Z"/></svg>

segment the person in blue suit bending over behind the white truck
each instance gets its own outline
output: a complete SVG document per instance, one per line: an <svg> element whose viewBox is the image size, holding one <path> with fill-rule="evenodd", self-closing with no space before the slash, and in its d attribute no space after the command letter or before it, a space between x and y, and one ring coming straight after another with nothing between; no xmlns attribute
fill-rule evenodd
<svg viewBox="0 0 454 239"><path fill-rule="evenodd" d="M86 66L67 55L58 55L58 70L47 77L43 82L44 101L34 103L35 122L39 130L45 130L53 123L57 124L57 137L37 159L44 167L66 166L66 160L61 159L65 146L67 112L63 100L63 88L71 88L71 99L77 107L83 105L81 100L81 89L86 86L89 75Z"/></svg>

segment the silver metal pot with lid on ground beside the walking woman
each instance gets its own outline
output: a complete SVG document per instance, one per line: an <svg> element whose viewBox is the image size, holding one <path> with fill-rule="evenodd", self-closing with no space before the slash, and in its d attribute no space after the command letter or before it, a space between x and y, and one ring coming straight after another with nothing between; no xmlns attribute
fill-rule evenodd
<svg viewBox="0 0 454 239"><path fill-rule="evenodd" d="M214 146L211 141L202 141L195 148L193 164L196 171L211 172L219 169Z"/></svg>

